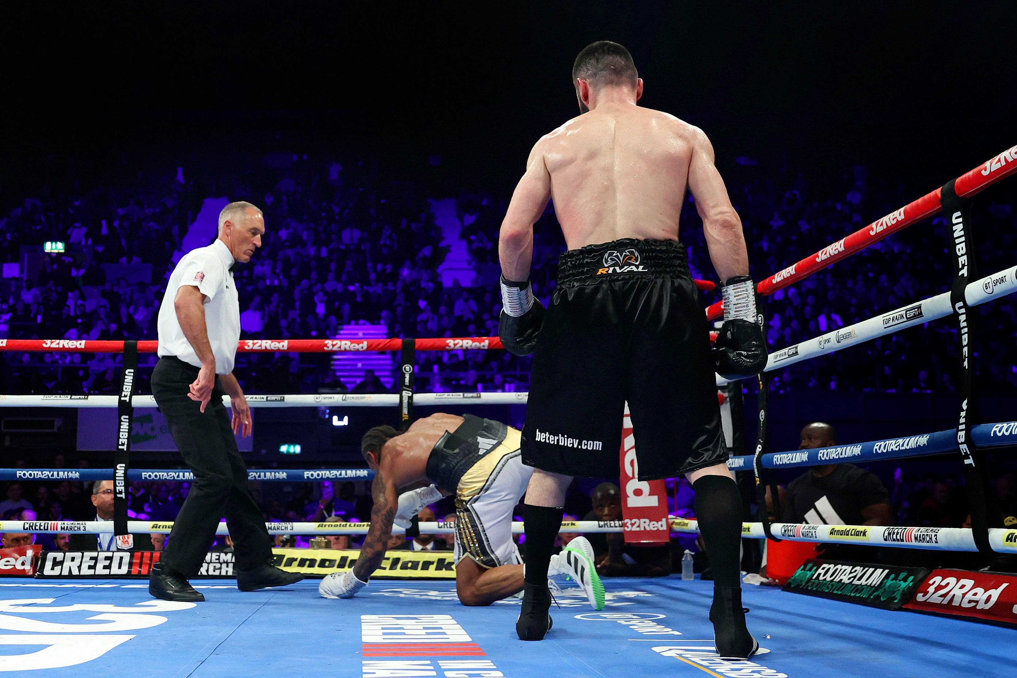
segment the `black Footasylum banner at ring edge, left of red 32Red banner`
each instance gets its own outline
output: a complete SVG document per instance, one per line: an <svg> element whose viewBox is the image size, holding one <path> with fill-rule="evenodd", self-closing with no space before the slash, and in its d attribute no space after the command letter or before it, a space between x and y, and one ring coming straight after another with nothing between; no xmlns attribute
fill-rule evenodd
<svg viewBox="0 0 1017 678"><path fill-rule="evenodd" d="M921 567L812 559L791 575L783 591L899 610L928 574Z"/></svg>

